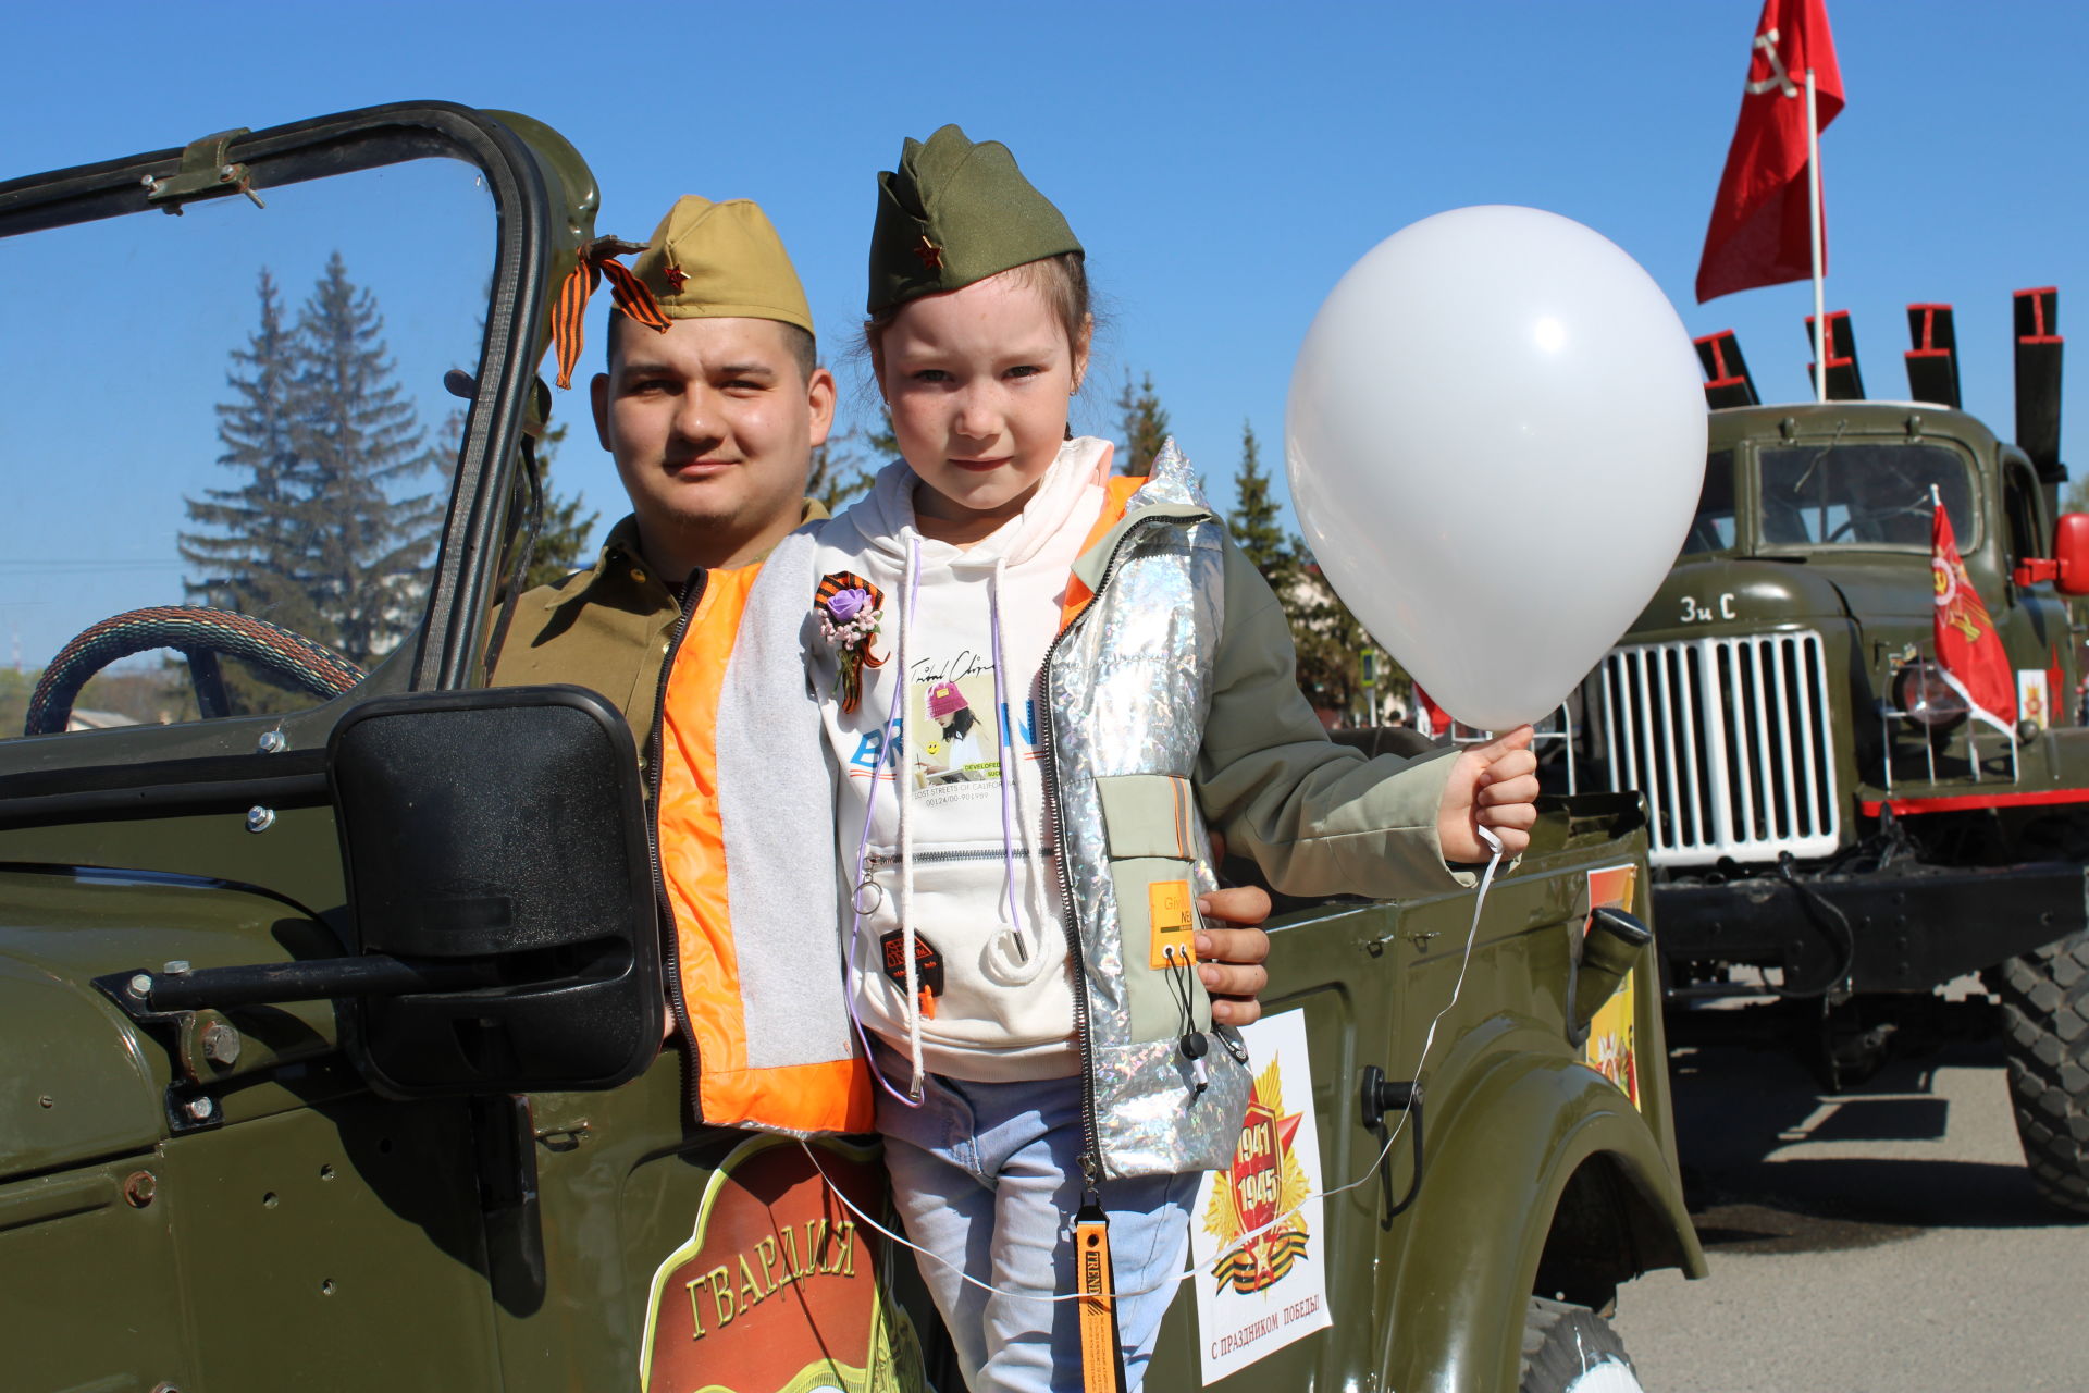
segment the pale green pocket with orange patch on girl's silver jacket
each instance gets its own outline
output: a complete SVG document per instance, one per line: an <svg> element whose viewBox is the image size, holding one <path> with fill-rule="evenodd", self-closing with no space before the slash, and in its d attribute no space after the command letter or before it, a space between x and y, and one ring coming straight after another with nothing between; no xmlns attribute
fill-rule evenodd
<svg viewBox="0 0 2089 1393"><path fill-rule="evenodd" d="M1113 775L1095 783L1118 896L1130 1038L1136 1044L1207 1032L1212 998L1197 977L1195 950L1201 829L1189 779Z"/></svg>

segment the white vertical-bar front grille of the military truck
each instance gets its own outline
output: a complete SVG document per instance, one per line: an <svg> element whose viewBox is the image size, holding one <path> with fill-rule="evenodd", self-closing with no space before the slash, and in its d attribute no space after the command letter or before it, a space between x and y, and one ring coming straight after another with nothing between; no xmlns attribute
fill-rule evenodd
<svg viewBox="0 0 2089 1393"><path fill-rule="evenodd" d="M1615 647L1602 660L1611 787L1640 789L1661 867L1836 846L1817 633Z"/></svg>

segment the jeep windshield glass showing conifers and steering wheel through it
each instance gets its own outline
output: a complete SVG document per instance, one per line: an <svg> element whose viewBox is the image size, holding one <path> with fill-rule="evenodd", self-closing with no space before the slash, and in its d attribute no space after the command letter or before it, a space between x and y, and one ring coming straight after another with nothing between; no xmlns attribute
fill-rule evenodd
<svg viewBox="0 0 2089 1393"><path fill-rule="evenodd" d="M6 240L0 737L315 706L424 618L493 198L451 159L263 198Z"/></svg>

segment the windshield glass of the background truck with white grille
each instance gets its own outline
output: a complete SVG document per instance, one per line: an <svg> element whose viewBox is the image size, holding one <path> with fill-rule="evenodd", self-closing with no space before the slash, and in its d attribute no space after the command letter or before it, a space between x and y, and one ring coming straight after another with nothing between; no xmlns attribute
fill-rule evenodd
<svg viewBox="0 0 2089 1393"><path fill-rule="evenodd" d="M1778 445L1757 451L1757 472L1763 547L1928 551L1932 497L1962 551L1980 543L1972 474L1949 445Z"/></svg>

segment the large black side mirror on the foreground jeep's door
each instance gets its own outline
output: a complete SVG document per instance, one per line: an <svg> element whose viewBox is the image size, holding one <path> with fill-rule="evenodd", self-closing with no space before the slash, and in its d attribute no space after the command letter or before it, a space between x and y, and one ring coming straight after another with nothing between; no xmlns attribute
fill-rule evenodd
<svg viewBox="0 0 2089 1393"><path fill-rule="evenodd" d="M366 702L328 741L351 952L424 986L343 1002L380 1092L614 1088L660 1050L660 940L623 716L581 687Z"/></svg>

